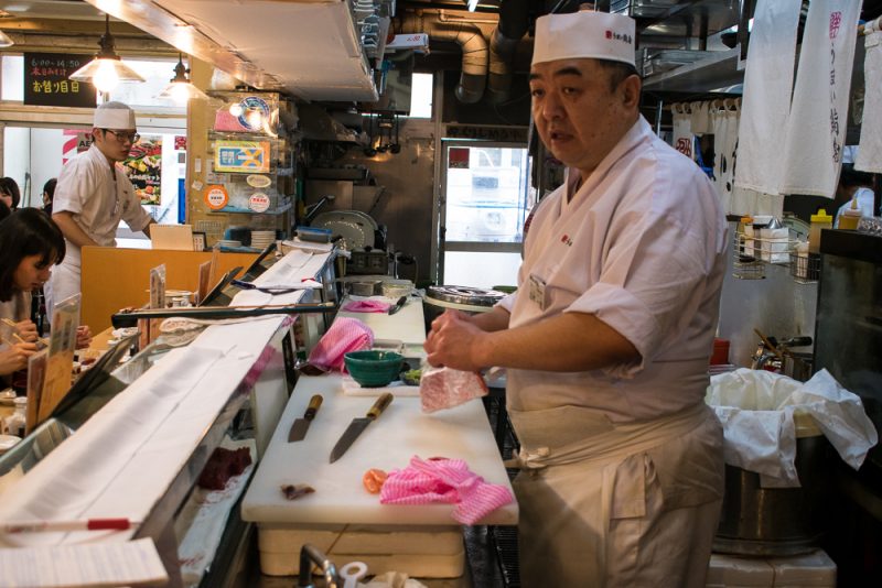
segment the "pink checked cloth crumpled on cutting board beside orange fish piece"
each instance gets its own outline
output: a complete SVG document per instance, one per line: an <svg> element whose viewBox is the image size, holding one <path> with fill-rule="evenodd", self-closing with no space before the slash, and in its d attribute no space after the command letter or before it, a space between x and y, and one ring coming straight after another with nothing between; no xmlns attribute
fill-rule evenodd
<svg viewBox="0 0 882 588"><path fill-rule="evenodd" d="M453 519L475 524L490 512L515 499L504 486L487 483L462 459L410 458L410 466L389 473L380 491L380 504L456 504Z"/></svg>

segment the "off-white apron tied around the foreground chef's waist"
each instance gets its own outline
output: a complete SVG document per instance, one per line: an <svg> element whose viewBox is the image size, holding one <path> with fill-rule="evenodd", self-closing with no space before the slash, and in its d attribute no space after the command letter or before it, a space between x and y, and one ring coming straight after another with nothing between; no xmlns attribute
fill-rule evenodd
<svg viewBox="0 0 882 588"><path fill-rule="evenodd" d="M724 473L707 405L628 424L579 406L509 415L525 587L704 586Z"/></svg>

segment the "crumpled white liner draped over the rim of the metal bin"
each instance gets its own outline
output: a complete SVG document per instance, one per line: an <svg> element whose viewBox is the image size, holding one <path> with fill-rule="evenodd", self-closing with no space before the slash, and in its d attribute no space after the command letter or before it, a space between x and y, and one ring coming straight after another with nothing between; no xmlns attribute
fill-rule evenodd
<svg viewBox="0 0 882 588"><path fill-rule="evenodd" d="M827 370L803 383L763 370L713 375L707 403L723 425L730 466L760 473L765 488L798 487L794 413L810 415L849 466L858 469L879 440L858 395Z"/></svg>

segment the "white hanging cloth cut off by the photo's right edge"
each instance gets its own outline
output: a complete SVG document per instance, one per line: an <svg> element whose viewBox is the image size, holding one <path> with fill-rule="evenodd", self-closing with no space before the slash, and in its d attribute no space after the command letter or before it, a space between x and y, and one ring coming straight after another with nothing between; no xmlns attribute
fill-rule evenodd
<svg viewBox="0 0 882 588"><path fill-rule="evenodd" d="M882 32L874 31L863 41L867 57L863 61L863 121L861 142L854 168L882 174Z"/></svg>

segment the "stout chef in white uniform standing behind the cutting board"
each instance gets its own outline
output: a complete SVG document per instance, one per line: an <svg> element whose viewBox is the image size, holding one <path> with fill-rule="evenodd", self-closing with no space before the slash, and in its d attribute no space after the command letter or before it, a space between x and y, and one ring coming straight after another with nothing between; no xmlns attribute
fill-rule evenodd
<svg viewBox="0 0 882 588"><path fill-rule="evenodd" d="M518 290L448 311L429 362L508 368L524 586L703 587L723 491L704 405L728 243L701 170L638 111L635 25L538 19L533 118L564 185L535 211Z"/></svg>

